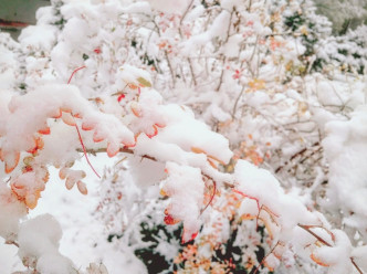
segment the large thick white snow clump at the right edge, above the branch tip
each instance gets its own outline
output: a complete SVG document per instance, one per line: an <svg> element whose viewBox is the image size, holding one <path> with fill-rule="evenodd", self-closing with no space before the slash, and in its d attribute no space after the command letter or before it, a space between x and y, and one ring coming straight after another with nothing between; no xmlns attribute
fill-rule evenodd
<svg viewBox="0 0 367 274"><path fill-rule="evenodd" d="M326 125L328 133L324 139L324 148L329 159L329 207L340 207L343 211L353 212L361 217L359 222L348 223L355 228L361 228L367 214L365 172L366 162L366 107L361 106L353 113L352 119L347 122L329 122ZM346 214L348 219L349 214ZM350 214L352 215L352 214Z"/></svg>

